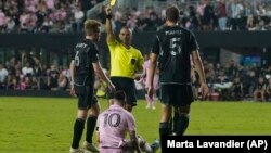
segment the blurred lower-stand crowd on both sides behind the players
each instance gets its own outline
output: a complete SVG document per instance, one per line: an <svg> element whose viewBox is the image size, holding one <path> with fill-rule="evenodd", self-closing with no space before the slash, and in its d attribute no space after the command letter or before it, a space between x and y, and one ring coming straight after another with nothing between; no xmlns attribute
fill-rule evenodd
<svg viewBox="0 0 271 153"><path fill-rule="evenodd" d="M240 62L233 60L223 64L206 60L203 63L211 89L209 100L268 101L271 98L271 66L261 67L257 64L242 66ZM109 75L109 71L104 71ZM194 98L201 100L198 76L193 69L192 78ZM144 81L136 81L136 85L140 92L144 92ZM99 97L106 97L106 84L96 78L94 87ZM0 90L66 91L69 90L69 69L67 66L42 64L35 54L23 53L22 59L12 58L4 64L0 63Z"/></svg>

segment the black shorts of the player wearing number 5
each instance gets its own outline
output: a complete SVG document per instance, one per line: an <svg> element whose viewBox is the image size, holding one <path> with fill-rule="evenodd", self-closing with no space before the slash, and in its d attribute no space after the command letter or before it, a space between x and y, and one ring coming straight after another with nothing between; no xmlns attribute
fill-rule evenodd
<svg viewBox="0 0 271 153"><path fill-rule="evenodd" d="M159 99L165 105L190 105L194 101L192 86L176 84L160 85Z"/></svg>

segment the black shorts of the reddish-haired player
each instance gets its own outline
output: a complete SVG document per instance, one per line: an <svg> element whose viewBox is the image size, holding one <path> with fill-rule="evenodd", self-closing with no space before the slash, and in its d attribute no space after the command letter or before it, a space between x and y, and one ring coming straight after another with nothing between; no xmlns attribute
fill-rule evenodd
<svg viewBox="0 0 271 153"><path fill-rule="evenodd" d="M75 85L75 93L78 98L78 109L88 110L91 105L98 103L98 99L94 95L92 86L77 86Z"/></svg>

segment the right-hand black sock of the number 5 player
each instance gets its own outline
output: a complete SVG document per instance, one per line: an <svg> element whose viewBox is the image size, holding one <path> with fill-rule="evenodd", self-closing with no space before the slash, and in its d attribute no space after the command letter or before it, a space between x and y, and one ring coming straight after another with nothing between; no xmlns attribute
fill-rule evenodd
<svg viewBox="0 0 271 153"><path fill-rule="evenodd" d="M189 114L184 114L184 113L180 114L179 119L177 122L177 126L176 126L177 136L183 136L188 126L189 126Z"/></svg>

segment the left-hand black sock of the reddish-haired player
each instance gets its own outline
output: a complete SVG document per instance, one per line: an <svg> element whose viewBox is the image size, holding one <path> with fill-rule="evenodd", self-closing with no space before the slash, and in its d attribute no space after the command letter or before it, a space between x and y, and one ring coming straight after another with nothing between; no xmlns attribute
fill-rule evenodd
<svg viewBox="0 0 271 153"><path fill-rule="evenodd" d="M85 119L77 118L74 125L74 138L72 143L73 149L79 148L79 142L82 137L83 127L85 127Z"/></svg>

